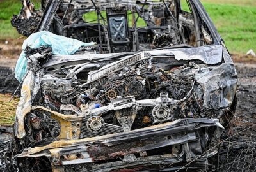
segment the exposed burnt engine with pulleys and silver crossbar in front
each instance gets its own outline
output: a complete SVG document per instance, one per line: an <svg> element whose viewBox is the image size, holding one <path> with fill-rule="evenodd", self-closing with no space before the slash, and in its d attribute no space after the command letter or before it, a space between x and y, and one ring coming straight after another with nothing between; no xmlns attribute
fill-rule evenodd
<svg viewBox="0 0 256 172"><path fill-rule="evenodd" d="M81 138L195 117L202 110L202 89L194 87L191 67L164 71L144 53L90 72L79 86L76 78L63 77L67 73L59 75L44 76L44 104L65 115L83 114ZM184 101L188 97L194 99Z"/></svg>

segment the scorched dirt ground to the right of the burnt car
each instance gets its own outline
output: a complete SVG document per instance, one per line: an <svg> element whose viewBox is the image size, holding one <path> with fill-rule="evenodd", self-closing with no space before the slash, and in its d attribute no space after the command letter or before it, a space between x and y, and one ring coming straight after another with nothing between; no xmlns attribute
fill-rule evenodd
<svg viewBox="0 0 256 172"><path fill-rule="evenodd" d="M219 171L256 169L256 64L236 63L237 108L220 144Z"/></svg>

